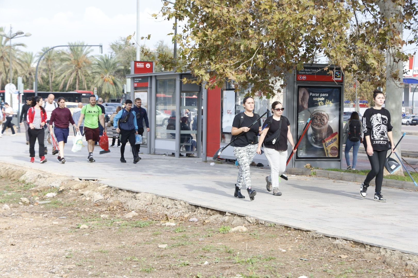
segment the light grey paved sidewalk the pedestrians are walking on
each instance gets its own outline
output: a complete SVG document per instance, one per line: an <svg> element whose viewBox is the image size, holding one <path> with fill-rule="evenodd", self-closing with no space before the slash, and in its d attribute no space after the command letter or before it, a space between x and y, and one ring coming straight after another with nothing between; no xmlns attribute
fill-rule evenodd
<svg viewBox="0 0 418 278"><path fill-rule="evenodd" d="M234 198L237 168L232 164L201 162L195 158L173 158L161 155L140 155L143 159L133 164L129 149L127 163L120 163L120 148L99 155L96 162L87 161L87 147L72 153L66 146L66 163L61 165L56 155L48 154L48 162L29 163L29 146L24 135L0 138L0 161L14 165L56 172L57 175L99 178L107 185L153 193L194 205L212 208L260 220L278 223L324 235L355 240L392 250L418 255L416 207L418 192L383 188L387 203L373 200L374 188L367 198L359 196L359 183L334 181L326 178L291 176L284 181L282 196L273 196L265 189L269 170L251 167L252 188L257 190L254 201L242 190L245 199ZM71 142L71 138L69 138ZM85 143L86 144L86 143ZM49 153L51 147L48 146ZM37 145L36 145L37 153Z"/></svg>

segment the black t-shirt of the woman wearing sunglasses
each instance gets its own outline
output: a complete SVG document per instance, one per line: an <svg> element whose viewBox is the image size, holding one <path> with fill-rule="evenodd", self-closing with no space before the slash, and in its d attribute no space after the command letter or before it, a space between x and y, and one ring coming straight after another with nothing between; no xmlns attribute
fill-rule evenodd
<svg viewBox="0 0 418 278"><path fill-rule="evenodd" d="M272 142L273 140L266 142L265 139L273 135L279 129L279 125L281 126L280 137L276 139L276 142L274 144ZM273 119L273 116L268 117L264 122L265 128L268 128L267 135L265 135L263 142L264 148L275 150L287 150L287 133L289 125L289 120L285 116L281 116L280 120Z"/></svg>

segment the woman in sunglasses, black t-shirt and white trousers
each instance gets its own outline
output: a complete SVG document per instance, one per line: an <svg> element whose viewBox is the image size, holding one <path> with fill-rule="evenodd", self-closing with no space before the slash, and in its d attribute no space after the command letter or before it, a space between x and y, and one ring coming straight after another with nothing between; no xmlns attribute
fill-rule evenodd
<svg viewBox="0 0 418 278"><path fill-rule="evenodd" d="M261 154L261 145L264 143L264 153L270 165L270 176L265 177L267 182L267 190L272 190L273 195L280 196L282 193L279 190L280 175L286 170L287 158L287 141L295 146L293 136L290 132L290 123L288 118L283 116L283 105L275 101L271 105L273 115L268 117L264 122L263 133L260 135L258 141L257 153ZM293 150L296 152L296 150Z"/></svg>

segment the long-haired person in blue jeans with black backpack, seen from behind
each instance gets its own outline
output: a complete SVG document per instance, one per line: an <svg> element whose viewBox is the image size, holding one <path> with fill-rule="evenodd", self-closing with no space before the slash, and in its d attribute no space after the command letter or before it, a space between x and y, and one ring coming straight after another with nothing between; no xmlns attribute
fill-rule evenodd
<svg viewBox="0 0 418 278"><path fill-rule="evenodd" d="M347 133L347 142L345 143L344 154L347 163L347 170L356 170L357 153L359 152L360 143L363 142L363 125L360 122L359 113L354 111L351 117L344 125L342 133ZM353 166L350 166L350 150L353 148Z"/></svg>

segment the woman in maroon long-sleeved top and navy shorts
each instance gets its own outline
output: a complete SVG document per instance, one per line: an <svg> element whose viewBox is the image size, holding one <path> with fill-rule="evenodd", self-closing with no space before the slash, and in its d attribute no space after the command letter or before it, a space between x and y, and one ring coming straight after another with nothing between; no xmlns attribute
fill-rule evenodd
<svg viewBox="0 0 418 278"><path fill-rule="evenodd" d="M58 98L58 105L58 108L55 108L54 111L52 111L51 119L49 120L49 129L52 130L52 125L54 125L54 135L59 148L57 160L61 164L64 164L64 145L67 143L67 138L70 132L69 123L74 126L76 131L79 131L79 128L74 123L71 111L65 107L65 98Z"/></svg>

